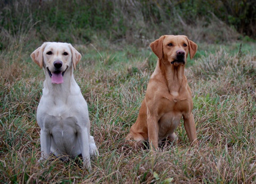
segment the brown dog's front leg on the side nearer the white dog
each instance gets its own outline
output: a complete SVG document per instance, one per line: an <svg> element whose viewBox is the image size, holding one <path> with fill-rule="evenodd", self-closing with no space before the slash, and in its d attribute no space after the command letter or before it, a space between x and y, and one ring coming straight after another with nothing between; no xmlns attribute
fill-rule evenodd
<svg viewBox="0 0 256 184"><path fill-rule="evenodd" d="M158 147L158 131L159 131L157 118L148 113L147 122L148 122L149 145L152 145L154 148L157 148Z"/></svg>

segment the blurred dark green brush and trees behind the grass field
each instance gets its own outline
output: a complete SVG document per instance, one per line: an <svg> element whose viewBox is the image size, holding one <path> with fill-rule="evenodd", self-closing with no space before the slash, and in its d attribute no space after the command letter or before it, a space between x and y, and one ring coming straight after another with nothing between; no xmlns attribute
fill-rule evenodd
<svg viewBox="0 0 256 184"><path fill-rule="evenodd" d="M0 47L22 34L44 41L90 42L97 32L131 43L160 34L191 34L205 38L199 41L218 42L231 39L236 30L255 39L255 5L255 0L0 0Z"/></svg>

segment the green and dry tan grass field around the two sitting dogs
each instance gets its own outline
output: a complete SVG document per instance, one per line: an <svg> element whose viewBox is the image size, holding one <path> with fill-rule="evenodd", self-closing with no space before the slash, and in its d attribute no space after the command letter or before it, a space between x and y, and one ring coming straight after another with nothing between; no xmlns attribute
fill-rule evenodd
<svg viewBox="0 0 256 184"><path fill-rule="evenodd" d="M150 48L100 39L74 45L82 54L74 76L99 149L91 173L80 158L37 162L36 109L45 77L30 54L40 44L0 52L1 183L255 183L255 43L199 43L185 72L199 144L190 146L181 122L178 144L159 152L134 150L124 142L157 62Z"/></svg>

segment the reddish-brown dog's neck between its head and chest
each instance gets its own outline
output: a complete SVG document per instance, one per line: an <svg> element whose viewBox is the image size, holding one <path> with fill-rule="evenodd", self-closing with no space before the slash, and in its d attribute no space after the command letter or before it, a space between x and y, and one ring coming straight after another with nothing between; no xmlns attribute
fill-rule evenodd
<svg viewBox="0 0 256 184"><path fill-rule="evenodd" d="M170 64L168 61L159 62L159 68L163 74L170 93L178 93L184 80L184 65Z"/></svg>

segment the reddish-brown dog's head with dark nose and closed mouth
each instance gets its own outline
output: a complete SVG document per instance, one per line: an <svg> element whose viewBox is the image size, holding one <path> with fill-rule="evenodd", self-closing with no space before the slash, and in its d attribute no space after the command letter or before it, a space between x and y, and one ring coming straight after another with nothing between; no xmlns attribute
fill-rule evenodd
<svg viewBox="0 0 256 184"><path fill-rule="evenodd" d="M190 52L192 59L198 46L184 35L165 35L150 43L152 51L159 60L166 60L172 65L184 65Z"/></svg>

